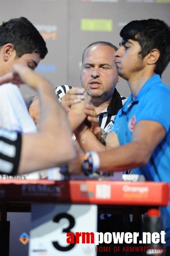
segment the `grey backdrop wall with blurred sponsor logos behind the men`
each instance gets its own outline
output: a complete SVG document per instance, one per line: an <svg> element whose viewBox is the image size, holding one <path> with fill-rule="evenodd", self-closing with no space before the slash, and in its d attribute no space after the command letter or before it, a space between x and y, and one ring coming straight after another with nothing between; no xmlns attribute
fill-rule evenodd
<svg viewBox="0 0 170 256"><path fill-rule="evenodd" d="M0 23L25 16L40 31L49 50L37 72L59 86L81 86L81 55L94 41L118 46L121 28L131 20L162 19L170 25L170 0L0 0ZM163 74L169 82L170 65ZM123 96L130 93L123 79L117 85ZM23 95L34 92L22 87Z"/></svg>

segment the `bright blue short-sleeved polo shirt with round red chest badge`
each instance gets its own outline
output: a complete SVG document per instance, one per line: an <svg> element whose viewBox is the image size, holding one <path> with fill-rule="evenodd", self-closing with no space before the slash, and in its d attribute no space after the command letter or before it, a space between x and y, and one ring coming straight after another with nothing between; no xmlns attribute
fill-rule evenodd
<svg viewBox="0 0 170 256"><path fill-rule="evenodd" d="M135 174L143 174L147 180L164 181L170 184L170 87L154 75L133 100L132 94L118 111L111 131L118 135L120 145L132 141L135 124L140 120L159 122L166 136L156 147L147 165L133 169ZM166 246L170 246L170 205L162 207L165 218Z"/></svg>

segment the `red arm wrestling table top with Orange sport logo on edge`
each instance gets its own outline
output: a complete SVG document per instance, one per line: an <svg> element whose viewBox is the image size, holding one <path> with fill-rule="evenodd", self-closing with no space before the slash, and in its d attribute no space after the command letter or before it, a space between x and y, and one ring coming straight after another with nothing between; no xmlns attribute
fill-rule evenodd
<svg viewBox="0 0 170 256"><path fill-rule="evenodd" d="M30 212L35 203L95 204L98 213L141 215L168 201L165 182L0 180L1 221L6 221L7 212Z"/></svg>

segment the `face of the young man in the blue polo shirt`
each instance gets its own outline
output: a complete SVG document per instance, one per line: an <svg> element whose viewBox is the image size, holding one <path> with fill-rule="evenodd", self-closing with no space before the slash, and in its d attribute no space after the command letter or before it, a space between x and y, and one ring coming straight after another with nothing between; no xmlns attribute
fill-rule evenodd
<svg viewBox="0 0 170 256"><path fill-rule="evenodd" d="M141 56L141 46L137 41L128 39L121 41L121 46L115 52L115 64L118 75L129 81L144 69L144 59Z"/></svg>

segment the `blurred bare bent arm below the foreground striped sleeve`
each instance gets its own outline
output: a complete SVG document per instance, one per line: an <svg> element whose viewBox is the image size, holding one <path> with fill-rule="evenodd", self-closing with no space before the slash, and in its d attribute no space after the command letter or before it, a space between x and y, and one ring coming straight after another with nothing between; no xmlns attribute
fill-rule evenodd
<svg viewBox="0 0 170 256"><path fill-rule="evenodd" d="M36 134L23 134L19 174L67 163L75 157L75 147L66 113L56 101L49 84L37 86L40 123Z"/></svg>

